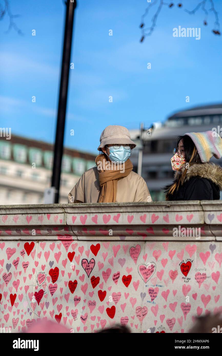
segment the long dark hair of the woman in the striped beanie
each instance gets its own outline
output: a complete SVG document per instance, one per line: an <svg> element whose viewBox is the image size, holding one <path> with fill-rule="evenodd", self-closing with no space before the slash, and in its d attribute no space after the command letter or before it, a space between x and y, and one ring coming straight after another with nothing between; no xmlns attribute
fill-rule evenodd
<svg viewBox="0 0 222 356"><path fill-rule="evenodd" d="M198 155L196 146L191 140L190 136L184 135L184 136L177 137L176 148L178 148L180 140L183 140L184 143L186 163L189 163L189 166L191 166L194 163L201 163L201 159L200 156ZM182 166L184 166L184 164ZM177 171L175 174L174 182L162 188L166 193L166 200L170 200L169 199L170 195L173 194L175 190L177 191L180 185L184 184L187 169L188 168L185 168L182 174L178 174L179 171Z"/></svg>

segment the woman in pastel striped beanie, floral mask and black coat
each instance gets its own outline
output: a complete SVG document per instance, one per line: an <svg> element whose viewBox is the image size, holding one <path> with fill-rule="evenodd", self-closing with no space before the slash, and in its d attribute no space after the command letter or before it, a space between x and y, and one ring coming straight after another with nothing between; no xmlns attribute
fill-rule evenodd
<svg viewBox="0 0 222 356"><path fill-rule="evenodd" d="M222 168L210 163L222 157L222 138L214 131L185 133L177 139L171 158L174 182L164 189L166 200L217 200L222 190Z"/></svg>

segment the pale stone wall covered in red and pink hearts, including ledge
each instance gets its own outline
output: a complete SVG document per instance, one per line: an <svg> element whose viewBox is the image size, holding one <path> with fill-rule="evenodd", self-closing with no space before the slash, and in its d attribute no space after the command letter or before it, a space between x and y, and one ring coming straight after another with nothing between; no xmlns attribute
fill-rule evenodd
<svg viewBox="0 0 222 356"><path fill-rule="evenodd" d="M220 201L0 206L0 326L186 333L222 310L221 240Z"/></svg>

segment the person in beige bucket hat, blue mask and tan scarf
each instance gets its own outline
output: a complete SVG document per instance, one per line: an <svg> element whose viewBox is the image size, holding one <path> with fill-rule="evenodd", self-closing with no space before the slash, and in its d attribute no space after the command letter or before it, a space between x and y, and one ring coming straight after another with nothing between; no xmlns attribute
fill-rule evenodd
<svg viewBox="0 0 222 356"><path fill-rule="evenodd" d="M69 203L152 201L145 180L133 172L129 157L135 147L124 126L109 125L101 136L95 158L68 195Z"/></svg>

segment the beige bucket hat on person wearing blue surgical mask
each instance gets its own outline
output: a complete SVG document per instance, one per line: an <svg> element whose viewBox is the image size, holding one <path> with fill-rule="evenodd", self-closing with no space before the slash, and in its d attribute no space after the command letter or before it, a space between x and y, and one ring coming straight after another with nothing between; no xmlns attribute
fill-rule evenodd
<svg viewBox="0 0 222 356"><path fill-rule="evenodd" d="M132 145L132 148L136 147L135 142L130 139L130 133L126 127L119 125L109 125L101 133L100 145L97 149L98 151L101 151L101 148L103 148L105 145L112 145L114 143L119 145L125 145L126 143L129 143L129 145Z"/></svg>

